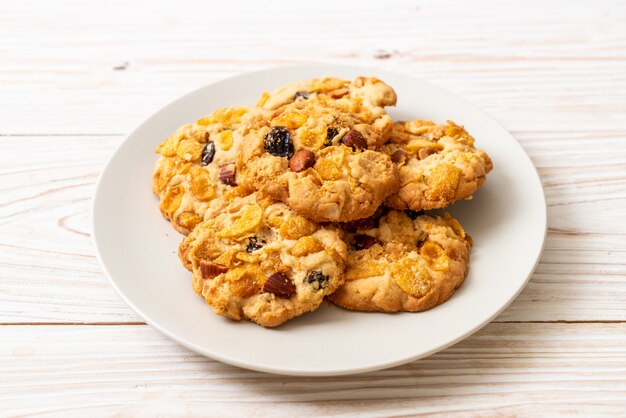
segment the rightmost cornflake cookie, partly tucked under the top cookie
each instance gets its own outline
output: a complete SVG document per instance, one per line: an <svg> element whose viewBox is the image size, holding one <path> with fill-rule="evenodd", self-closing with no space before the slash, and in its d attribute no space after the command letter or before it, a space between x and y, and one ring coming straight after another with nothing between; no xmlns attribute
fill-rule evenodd
<svg viewBox="0 0 626 418"><path fill-rule="evenodd" d="M454 122L396 122L385 151L398 166L400 188L387 199L395 209L443 208L471 199L493 165L474 138Z"/></svg>

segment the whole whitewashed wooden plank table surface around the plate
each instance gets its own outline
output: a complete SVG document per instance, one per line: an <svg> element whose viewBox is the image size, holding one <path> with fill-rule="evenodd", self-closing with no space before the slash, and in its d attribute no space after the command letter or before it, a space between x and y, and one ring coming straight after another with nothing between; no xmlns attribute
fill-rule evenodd
<svg viewBox="0 0 626 418"><path fill-rule="evenodd" d="M335 378L224 365L147 326L95 259L94 183L133 127L198 86L314 61L458 93L541 175L529 285L429 358ZM624 1L7 1L0 144L2 416L626 415Z"/></svg>

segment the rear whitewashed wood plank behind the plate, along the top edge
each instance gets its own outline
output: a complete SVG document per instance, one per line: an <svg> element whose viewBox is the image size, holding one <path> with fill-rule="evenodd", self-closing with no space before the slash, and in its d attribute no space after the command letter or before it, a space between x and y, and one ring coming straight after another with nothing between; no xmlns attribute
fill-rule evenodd
<svg viewBox="0 0 626 418"><path fill-rule="evenodd" d="M181 94L273 65L430 80L508 128L624 130L626 3L123 0L0 6L0 133L126 133Z"/></svg>

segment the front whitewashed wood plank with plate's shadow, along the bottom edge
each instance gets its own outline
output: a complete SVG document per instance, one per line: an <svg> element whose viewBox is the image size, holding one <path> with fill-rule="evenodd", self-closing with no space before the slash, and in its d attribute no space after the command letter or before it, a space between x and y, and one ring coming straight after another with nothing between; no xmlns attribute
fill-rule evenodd
<svg viewBox="0 0 626 418"><path fill-rule="evenodd" d="M626 408L623 323L491 324L427 359L333 378L227 366L147 326L5 326L0 365L0 414L9 415L619 416Z"/></svg>

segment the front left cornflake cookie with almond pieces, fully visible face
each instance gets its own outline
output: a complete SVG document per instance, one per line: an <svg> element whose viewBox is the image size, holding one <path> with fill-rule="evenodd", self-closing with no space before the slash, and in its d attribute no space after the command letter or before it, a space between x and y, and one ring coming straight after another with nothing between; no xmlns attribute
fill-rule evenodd
<svg viewBox="0 0 626 418"><path fill-rule="evenodd" d="M179 257L215 313L275 327L314 311L343 283L347 249L337 229L250 195L200 223Z"/></svg>

